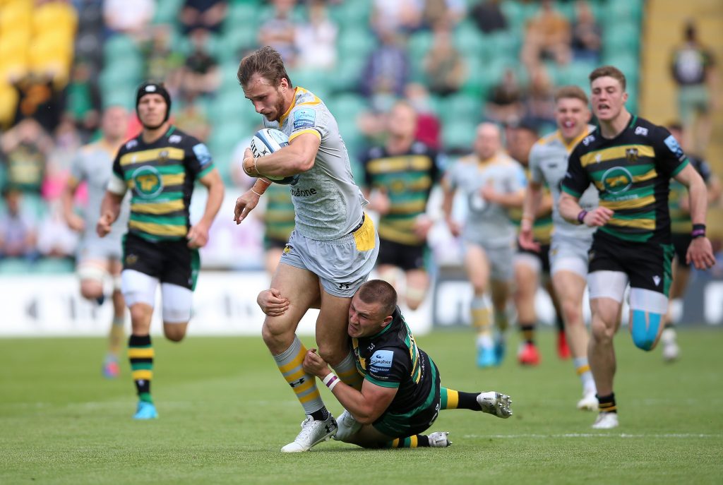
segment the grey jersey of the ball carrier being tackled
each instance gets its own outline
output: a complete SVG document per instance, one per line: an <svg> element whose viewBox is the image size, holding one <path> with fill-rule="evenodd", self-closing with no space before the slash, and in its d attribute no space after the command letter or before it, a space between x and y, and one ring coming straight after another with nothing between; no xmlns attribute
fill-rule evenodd
<svg viewBox="0 0 723 485"><path fill-rule="evenodd" d="M346 145L334 116L322 100L303 87L296 87L294 103L280 122L267 121L268 128L281 129L291 142L300 134L316 134L321 140L314 166L289 186L294 202L295 230L317 241L339 239L361 221L361 210L369 202L351 175Z"/></svg>

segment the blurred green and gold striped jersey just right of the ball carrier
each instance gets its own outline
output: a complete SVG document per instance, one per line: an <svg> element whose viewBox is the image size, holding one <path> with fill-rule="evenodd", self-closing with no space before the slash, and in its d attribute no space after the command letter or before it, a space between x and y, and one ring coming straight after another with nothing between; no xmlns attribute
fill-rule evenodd
<svg viewBox="0 0 723 485"><path fill-rule="evenodd" d="M399 244L424 244L414 233L414 223L427 211L429 192L440 180L440 155L424 143L414 142L398 155L372 147L362 163L367 188L383 190L389 197L389 212L379 220L379 237Z"/></svg>

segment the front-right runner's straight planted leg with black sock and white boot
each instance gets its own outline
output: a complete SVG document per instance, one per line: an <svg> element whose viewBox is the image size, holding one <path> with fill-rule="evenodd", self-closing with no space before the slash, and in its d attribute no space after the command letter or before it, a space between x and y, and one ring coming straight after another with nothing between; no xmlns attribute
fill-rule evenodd
<svg viewBox="0 0 723 485"><path fill-rule="evenodd" d="M599 403L599 414L593 427L609 429L617 426L617 407L612 387L616 361L612 340L620 326L620 306L628 285L628 275L621 271L596 270L588 275L588 284L592 311L588 359Z"/></svg>

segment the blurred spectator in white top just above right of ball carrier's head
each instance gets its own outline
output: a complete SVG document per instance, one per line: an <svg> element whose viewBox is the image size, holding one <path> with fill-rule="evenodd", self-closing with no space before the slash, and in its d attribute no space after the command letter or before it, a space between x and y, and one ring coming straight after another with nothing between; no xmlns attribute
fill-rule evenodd
<svg viewBox="0 0 723 485"><path fill-rule="evenodd" d="M309 20L296 28L296 49L299 66L304 69L330 70L336 64L336 35L338 29L328 18L322 0L309 4Z"/></svg>

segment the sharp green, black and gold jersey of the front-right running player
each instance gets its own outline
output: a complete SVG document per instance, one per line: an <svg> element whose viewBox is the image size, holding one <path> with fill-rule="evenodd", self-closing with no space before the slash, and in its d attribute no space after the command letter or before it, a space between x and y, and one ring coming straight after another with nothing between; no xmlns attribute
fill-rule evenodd
<svg viewBox="0 0 723 485"><path fill-rule="evenodd" d="M670 132L631 116L628 126L608 140L599 127L570 154L562 190L581 197L590 182L600 205L615 211L599 233L635 242L670 242L670 179L688 158Z"/></svg>

